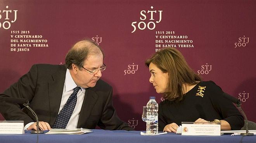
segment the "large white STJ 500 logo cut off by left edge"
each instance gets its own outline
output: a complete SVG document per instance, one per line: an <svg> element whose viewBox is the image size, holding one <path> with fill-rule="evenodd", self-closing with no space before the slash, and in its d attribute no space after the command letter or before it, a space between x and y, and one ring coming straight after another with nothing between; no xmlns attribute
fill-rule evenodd
<svg viewBox="0 0 256 143"><path fill-rule="evenodd" d="M8 5L5 7L6 10L0 10L0 28L9 29L11 23L14 23L17 20L17 12L18 10L8 10ZM10 21L9 17L14 15L13 20Z"/></svg>

